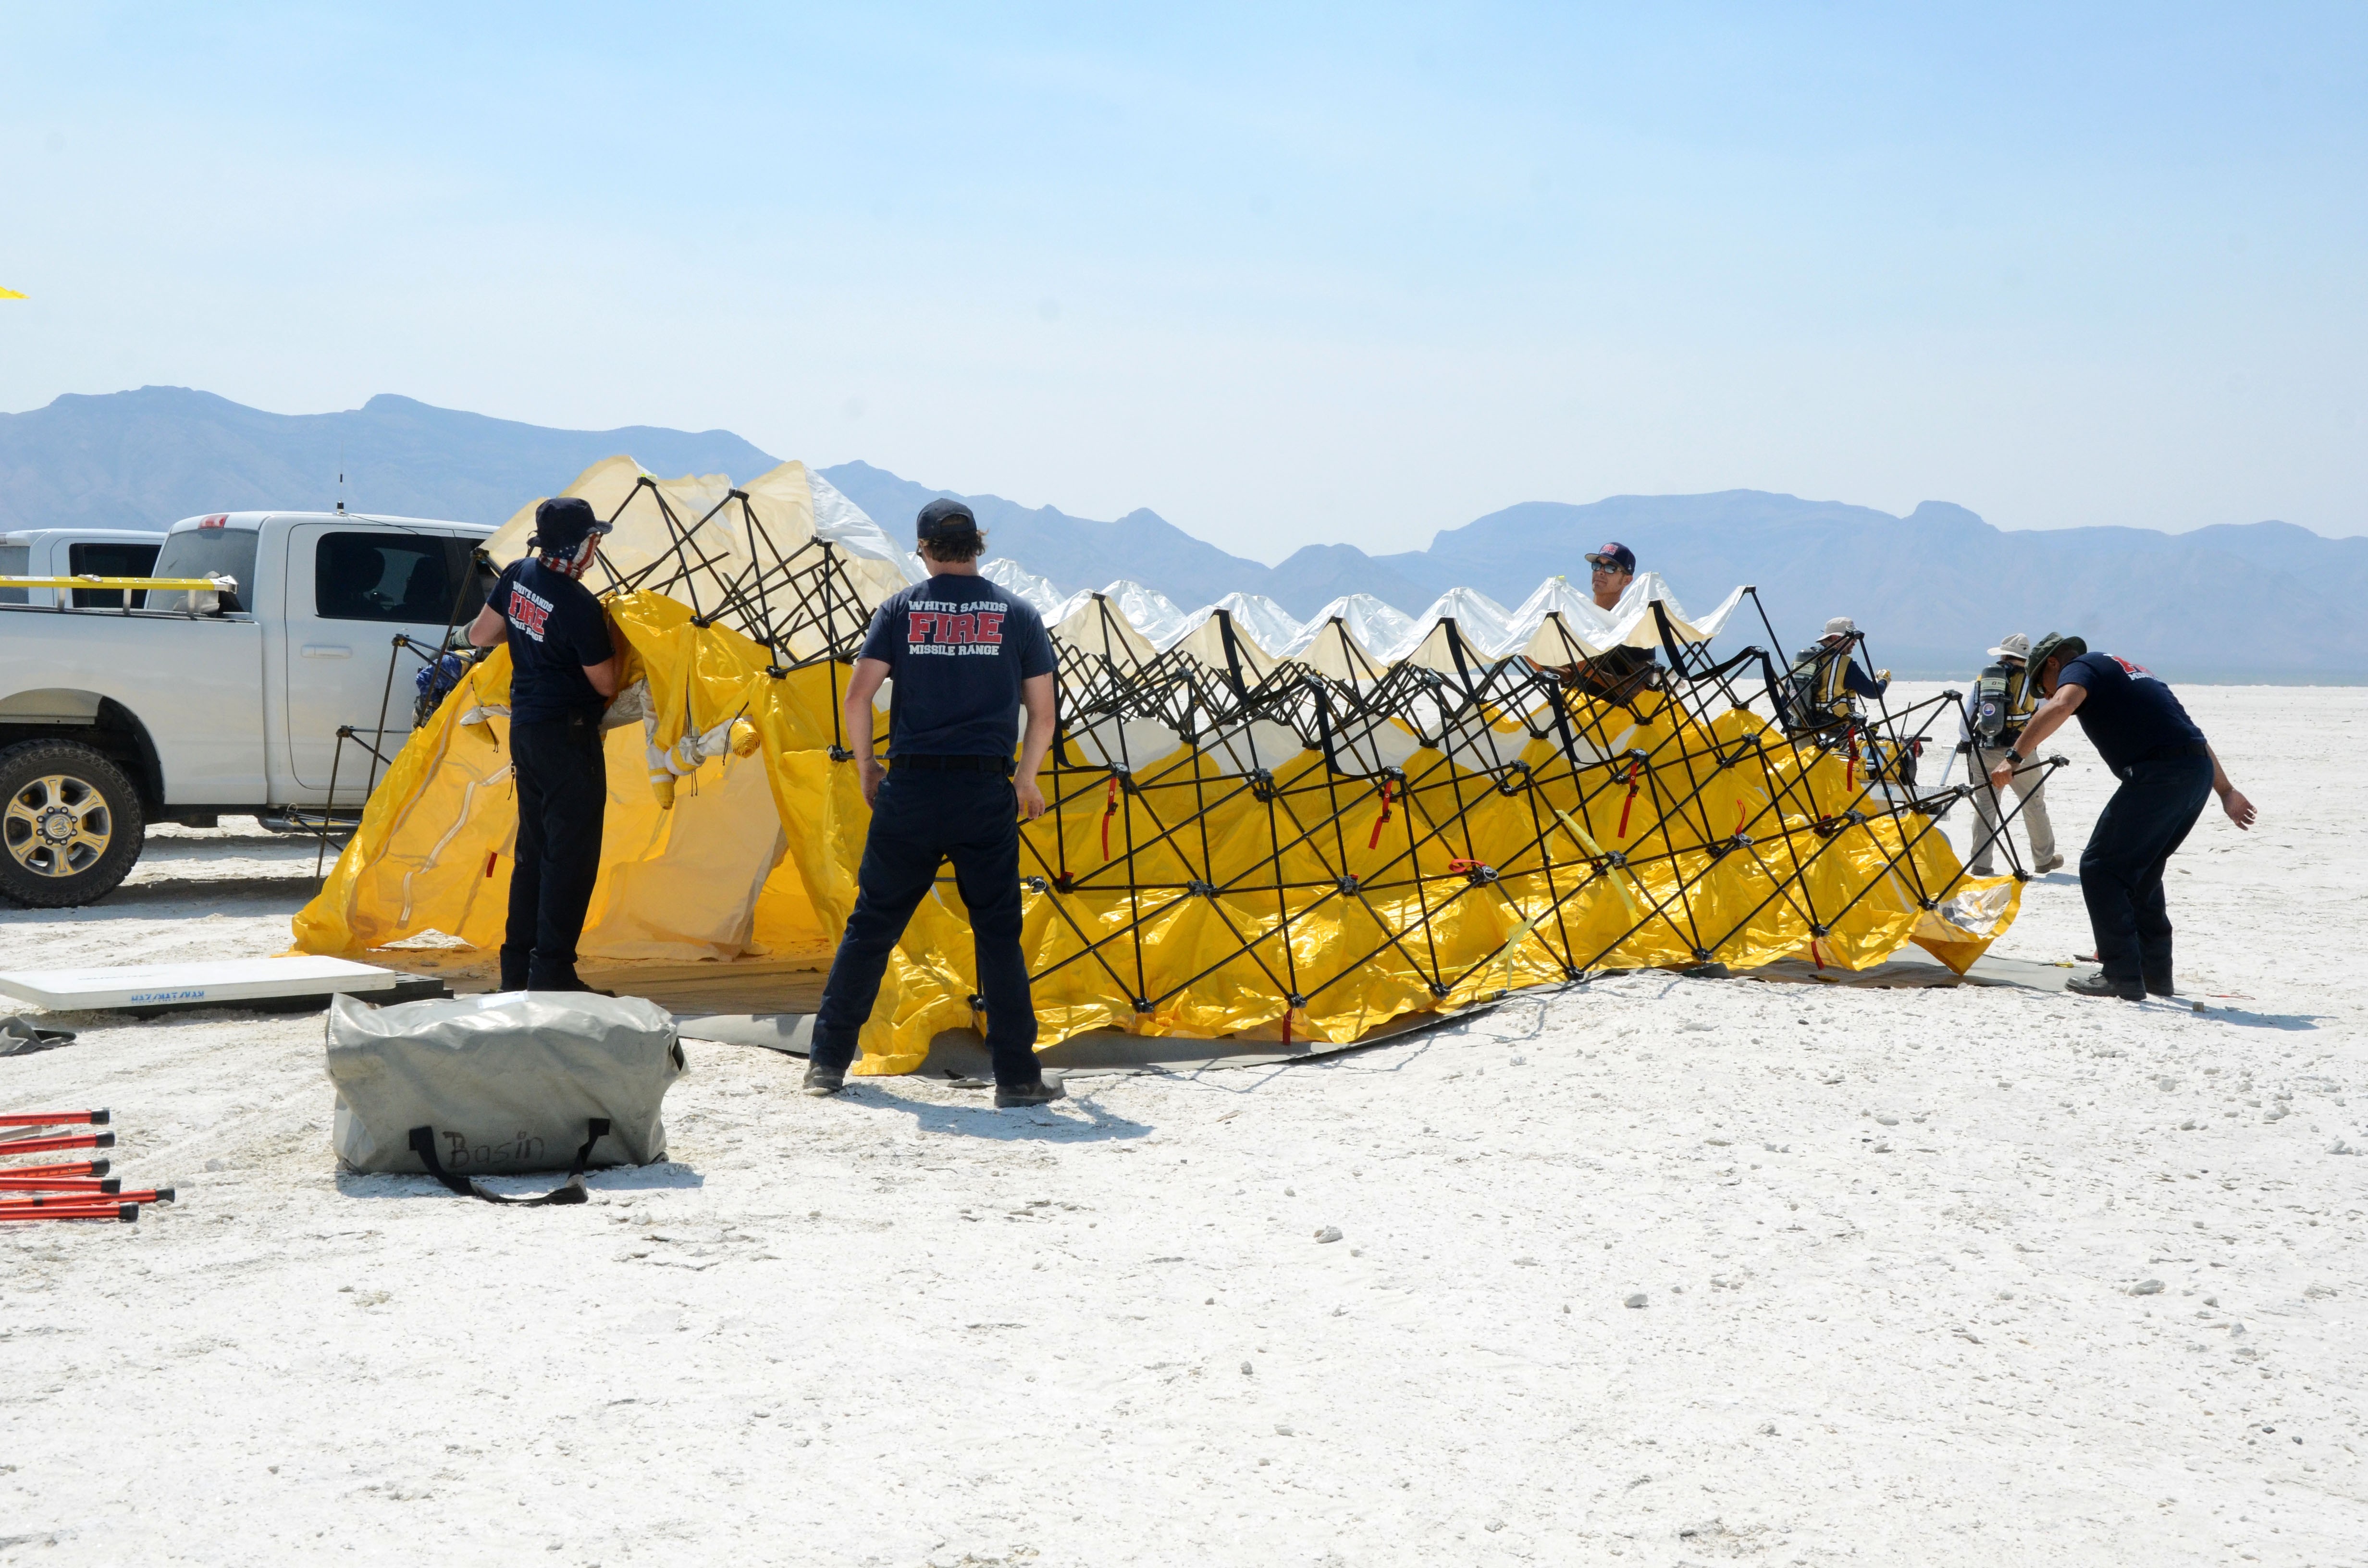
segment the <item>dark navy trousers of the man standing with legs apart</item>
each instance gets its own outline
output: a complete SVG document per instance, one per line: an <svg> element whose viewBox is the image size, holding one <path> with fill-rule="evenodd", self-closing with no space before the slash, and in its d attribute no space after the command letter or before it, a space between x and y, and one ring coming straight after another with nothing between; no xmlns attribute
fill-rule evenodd
<svg viewBox="0 0 2368 1568"><path fill-rule="evenodd" d="M1042 1080L1028 959L1021 957L1018 793L1011 779L992 772L895 765L871 805L871 834L855 872L855 914L822 985L812 1045L817 1068L843 1073L855 1061L855 1037L879 1000L888 955L945 860L954 862L954 886L971 910L995 1082L1021 1087Z"/></svg>

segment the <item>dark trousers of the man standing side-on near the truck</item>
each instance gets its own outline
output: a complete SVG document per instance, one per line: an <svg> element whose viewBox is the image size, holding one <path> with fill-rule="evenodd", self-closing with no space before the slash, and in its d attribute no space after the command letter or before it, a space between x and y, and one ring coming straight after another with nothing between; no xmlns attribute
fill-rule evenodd
<svg viewBox="0 0 2368 1568"><path fill-rule="evenodd" d="M511 725L509 760L519 770L519 860L509 872L502 990L568 990L609 815L599 720Z"/></svg>

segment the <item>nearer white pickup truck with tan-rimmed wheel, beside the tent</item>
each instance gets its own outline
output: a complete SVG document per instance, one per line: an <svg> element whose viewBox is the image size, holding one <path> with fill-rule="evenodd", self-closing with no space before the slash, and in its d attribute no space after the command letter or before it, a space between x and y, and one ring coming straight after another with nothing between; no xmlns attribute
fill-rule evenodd
<svg viewBox="0 0 2368 1568"><path fill-rule="evenodd" d="M234 578L227 592L149 590L140 609L0 602L0 895L90 902L140 860L149 822L358 810L379 770L353 744L341 758L339 730L393 756L422 666L398 658L388 692L393 640L433 651L476 616L490 535L215 512L173 523L137 576Z"/></svg>

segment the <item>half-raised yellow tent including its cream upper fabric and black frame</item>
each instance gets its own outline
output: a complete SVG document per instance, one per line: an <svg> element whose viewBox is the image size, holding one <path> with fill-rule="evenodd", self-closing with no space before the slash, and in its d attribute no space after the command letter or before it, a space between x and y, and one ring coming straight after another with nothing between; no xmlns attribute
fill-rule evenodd
<svg viewBox="0 0 2368 1568"><path fill-rule="evenodd" d="M583 952L824 955L869 827L838 748L834 651L852 649L902 576L815 535L796 464L746 490L618 464L578 481L620 516L604 559L625 578L609 597L625 696ZM635 507L696 552L654 545ZM519 540L514 521L497 547ZM779 540L796 540L789 559ZM751 611L734 597L767 571L798 604ZM739 609L696 613L689 599ZM720 618L760 621L762 640ZM1222 687L1193 651L1118 642L1061 644L1054 810L1023 829L1044 1047L1092 1028L1343 1042L1579 971L1783 957L1864 969L1906 943L1963 971L2015 914L2020 883L1965 879L1930 817L1861 772L1878 753L1857 737L1797 744L1750 711L1705 715L1662 692L1613 706L1504 661L1501 689L1523 696L1461 703L1459 727L1440 718L1456 708L1442 677L1423 673L1430 706L1407 711L1430 718L1383 720L1364 763L1345 741L1328 756L1269 706L1186 744L1130 720L1127 744L1167 734L1170 748L1125 767L1094 722L1096 703L1125 715L1108 689L1139 703L1163 680L1220 701ZM410 737L296 917L301 950L355 955L424 931L500 945L516 831L507 685L497 651ZM935 1033L976 1023L976 990L945 879L890 962L857 1071L919 1066Z"/></svg>

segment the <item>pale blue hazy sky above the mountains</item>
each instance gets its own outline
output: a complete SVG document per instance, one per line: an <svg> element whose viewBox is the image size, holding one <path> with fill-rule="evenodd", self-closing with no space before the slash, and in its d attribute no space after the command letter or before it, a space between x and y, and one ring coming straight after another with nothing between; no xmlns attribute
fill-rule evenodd
<svg viewBox="0 0 2368 1568"><path fill-rule="evenodd" d="M0 407L727 426L1269 561L2368 533L2368 7L1111 9L5 0Z"/></svg>

